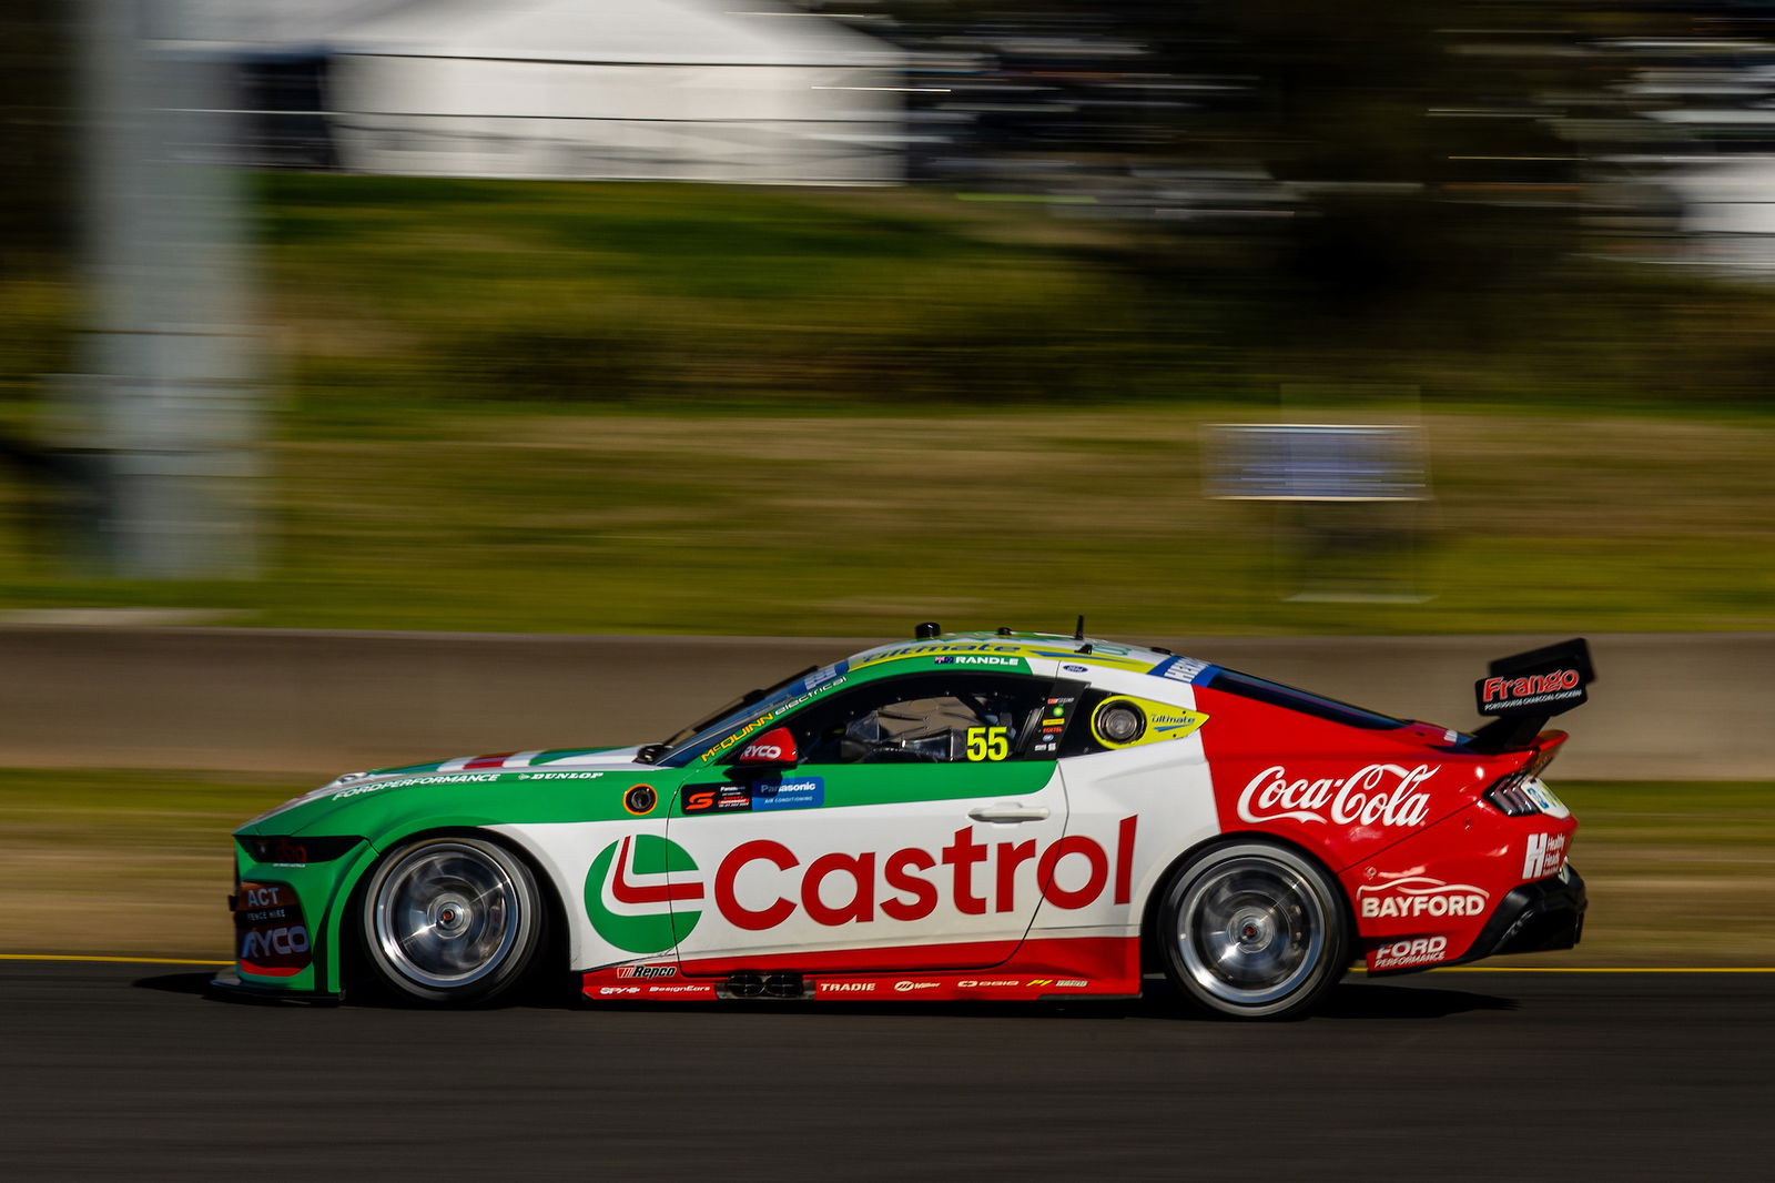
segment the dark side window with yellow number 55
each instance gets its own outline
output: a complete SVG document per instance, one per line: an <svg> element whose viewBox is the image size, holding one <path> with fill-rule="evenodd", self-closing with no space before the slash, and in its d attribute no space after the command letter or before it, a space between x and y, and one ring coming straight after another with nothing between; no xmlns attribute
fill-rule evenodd
<svg viewBox="0 0 1775 1183"><path fill-rule="evenodd" d="M998 764L1031 758L1045 707L1040 679L921 673L861 686L790 728L808 764Z"/></svg>

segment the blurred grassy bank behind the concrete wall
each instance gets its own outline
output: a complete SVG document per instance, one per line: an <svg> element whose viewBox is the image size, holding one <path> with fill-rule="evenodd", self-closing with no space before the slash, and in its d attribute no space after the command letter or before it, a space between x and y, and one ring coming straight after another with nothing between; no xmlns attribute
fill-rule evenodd
<svg viewBox="0 0 1775 1183"><path fill-rule="evenodd" d="M0 611L850 636L1079 611L1134 636L1775 627L1764 293L1580 272L1340 339L1239 297L1235 245L927 190L261 190L263 577L82 577L0 480ZM0 281L0 428L41 428L43 384L21 375L71 368L73 307ZM1349 526L1342 567L1404 602L1287 600L1322 576L1296 570L1290 519L1202 496L1203 426L1273 417L1278 384L1315 380L1424 391L1434 501L1397 515L1408 533L1306 522ZM1337 417L1411 414L1363 398Z"/></svg>

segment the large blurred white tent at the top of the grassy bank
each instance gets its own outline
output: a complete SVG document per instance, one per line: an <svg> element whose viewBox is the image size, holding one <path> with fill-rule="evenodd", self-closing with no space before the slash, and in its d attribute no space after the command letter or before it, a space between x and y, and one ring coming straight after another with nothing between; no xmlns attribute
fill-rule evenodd
<svg viewBox="0 0 1775 1183"><path fill-rule="evenodd" d="M884 183L902 62L754 0L424 0L334 34L327 107L364 172Z"/></svg>

